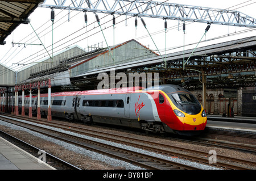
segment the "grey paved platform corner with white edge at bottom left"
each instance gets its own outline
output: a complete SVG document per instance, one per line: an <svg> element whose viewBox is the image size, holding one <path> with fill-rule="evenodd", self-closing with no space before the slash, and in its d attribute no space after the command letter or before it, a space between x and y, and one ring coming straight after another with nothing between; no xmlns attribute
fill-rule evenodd
<svg viewBox="0 0 256 181"><path fill-rule="evenodd" d="M0 137L0 170L56 170Z"/></svg>

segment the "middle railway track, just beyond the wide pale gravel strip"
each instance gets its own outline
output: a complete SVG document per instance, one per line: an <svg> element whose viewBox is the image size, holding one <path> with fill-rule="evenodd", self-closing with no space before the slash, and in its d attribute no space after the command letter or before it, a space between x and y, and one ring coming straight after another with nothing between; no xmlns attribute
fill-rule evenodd
<svg viewBox="0 0 256 181"><path fill-rule="evenodd" d="M108 155L109 157L121 159L122 161L132 163L132 164L140 166L144 169L199 170L196 167L184 165L182 163L173 162L168 159L153 157L151 155L138 153L137 151L131 151L131 150L127 150L127 149L118 148L117 146L111 146L111 145L104 144L101 142L88 140L86 138L73 136L71 134L67 134L67 133L63 133L63 132L59 132L59 131L53 131L52 129L42 128L40 126L31 125L29 123L23 123L23 122L20 122L17 120L13 120L11 118L1 117L1 120L6 121L7 123L15 124L20 127L30 129L31 131L42 133L46 136L53 137L53 138L56 138L61 141L69 142L73 145L77 145L77 146L80 146L85 149L96 151L97 153Z"/></svg>

